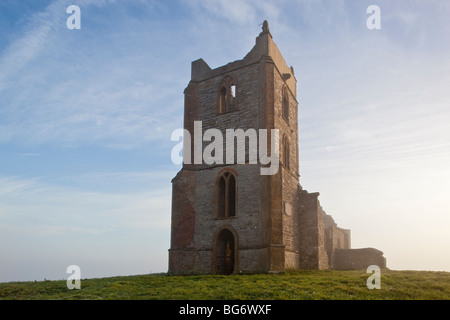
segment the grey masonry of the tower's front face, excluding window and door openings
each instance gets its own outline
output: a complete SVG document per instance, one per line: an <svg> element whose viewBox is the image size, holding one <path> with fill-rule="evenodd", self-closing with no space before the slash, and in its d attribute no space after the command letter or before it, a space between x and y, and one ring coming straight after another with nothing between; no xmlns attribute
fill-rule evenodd
<svg viewBox="0 0 450 320"><path fill-rule="evenodd" d="M254 63L238 69L229 68L223 74L200 81L198 87L198 121L202 121L203 133L211 128L219 129L225 138L226 129L259 129L260 119L260 64ZM224 77L236 80L235 111L219 114L218 91ZM225 139L224 139L225 158ZM203 148L209 142L203 143ZM248 145L247 145L248 146ZM248 150L246 150L248 152ZM225 161L224 161L225 162ZM237 178L237 214L236 217L216 217L215 184L223 170L235 172ZM261 198L267 190L261 190L263 180L259 165L196 165L196 250L195 272L213 272L214 237L222 228L232 228L237 235L238 259L237 271L242 273L267 272L270 249L266 235L270 234L270 224L262 215Z"/></svg>

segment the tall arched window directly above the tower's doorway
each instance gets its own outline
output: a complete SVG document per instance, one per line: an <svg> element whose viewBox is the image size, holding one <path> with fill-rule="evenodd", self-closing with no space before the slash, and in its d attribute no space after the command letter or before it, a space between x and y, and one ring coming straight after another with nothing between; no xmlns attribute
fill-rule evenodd
<svg viewBox="0 0 450 320"><path fill-rule="evenodd" d="M216 203L218 218L230 218L236 216L236 177L226 171L221 174L216 184Z"/></svg>

